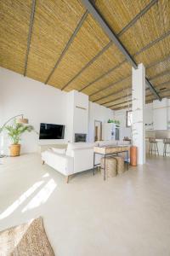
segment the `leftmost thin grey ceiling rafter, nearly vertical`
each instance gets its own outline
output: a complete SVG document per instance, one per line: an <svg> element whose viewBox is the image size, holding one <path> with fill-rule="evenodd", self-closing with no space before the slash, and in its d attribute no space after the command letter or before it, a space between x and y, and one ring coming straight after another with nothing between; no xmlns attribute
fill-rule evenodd
<svg viewBox="0 0 170 256"><path fill-rule="evenodd" d="M26 48L26 61L25 61L25 67L24 67L24 76L25 77L26 77L26 71L27 71L27 65L28 65L28 55L30 53L31 33L32 33L32 27L33 27L33 22L34 22L35 11L36 11L36 0L32 0L30 26L29 26L29 32L28 32L28 38L27 38L27 48Z"/></svg>

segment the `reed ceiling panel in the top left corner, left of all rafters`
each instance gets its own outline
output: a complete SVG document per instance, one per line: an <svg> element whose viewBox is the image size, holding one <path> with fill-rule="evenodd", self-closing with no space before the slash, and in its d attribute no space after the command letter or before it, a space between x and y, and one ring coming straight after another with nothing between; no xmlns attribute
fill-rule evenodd
<svg viewBox="0 0 170 256"><path fill-rule="evenodd" d="M0 1L0 66L24 72L31 0Z"/></svg>

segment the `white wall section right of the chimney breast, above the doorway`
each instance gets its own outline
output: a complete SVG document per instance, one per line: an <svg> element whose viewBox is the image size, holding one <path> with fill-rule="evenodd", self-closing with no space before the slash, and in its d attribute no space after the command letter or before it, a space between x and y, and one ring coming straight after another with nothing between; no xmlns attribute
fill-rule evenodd
<svg viewBox="0 0 170 256"><path fill-rule="evenodd" d="M89 102L88 107L88 142L94 142L94 120L107 123L108 119L113 119L113 110L105 108L99 104Z"/></svg>

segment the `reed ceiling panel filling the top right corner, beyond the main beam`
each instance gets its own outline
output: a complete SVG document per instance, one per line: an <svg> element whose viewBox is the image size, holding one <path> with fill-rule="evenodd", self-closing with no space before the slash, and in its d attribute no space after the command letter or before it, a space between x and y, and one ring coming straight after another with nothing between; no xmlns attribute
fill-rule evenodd
<svg viewBox="0 0 170 256"><path fill-rule="evenodd" d="M169 30L169 0L158 1L120 38L131 55ZM133 44L132 44L133 41Z"/></svg>

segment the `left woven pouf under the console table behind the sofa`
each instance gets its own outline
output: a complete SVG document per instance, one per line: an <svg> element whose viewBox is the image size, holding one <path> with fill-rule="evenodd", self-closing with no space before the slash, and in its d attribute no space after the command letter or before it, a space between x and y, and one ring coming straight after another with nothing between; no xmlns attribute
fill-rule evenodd
<svg viewBox="0 0 170 256"><path fill-rule="evenodd" d="M113 157L102 157L100 160L101 164L101 173L104 175L104 167L105 167L105 176L106 177L115 177L116 172L116 159Z"/></svg>

